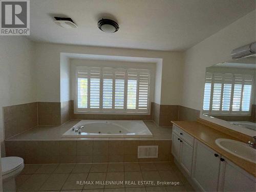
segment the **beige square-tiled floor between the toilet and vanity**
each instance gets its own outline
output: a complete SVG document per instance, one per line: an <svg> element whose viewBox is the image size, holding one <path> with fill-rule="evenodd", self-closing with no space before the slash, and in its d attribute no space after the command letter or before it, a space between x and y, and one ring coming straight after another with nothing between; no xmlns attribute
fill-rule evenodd
<svg viewBox="0 0 256 192"><path fill-rule="evenodd" d="M94 183L77 184L77 181ZM106 181L116 183L106 184ZM155 184L138 181L153 181ZM158 185L157 181L180 184ZM16 185L17 191L194 191L172 162L26 164L16 179Z"/></svg>

